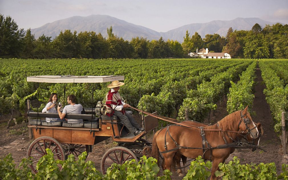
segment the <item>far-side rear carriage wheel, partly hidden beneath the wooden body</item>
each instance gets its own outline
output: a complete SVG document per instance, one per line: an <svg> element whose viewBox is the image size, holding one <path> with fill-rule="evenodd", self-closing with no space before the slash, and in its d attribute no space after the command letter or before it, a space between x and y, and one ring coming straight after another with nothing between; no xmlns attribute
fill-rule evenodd
<svg viewBox="0 0 288 180"><path fill-rule="evenodd" d="M82 154L84 151L87 152L87 156L89 153L89 145L83 145L83 144L66 144L61 143L62 147L65 149L65 154L70 155L73 154L75 161L78 160L78 156ZM87 158L85 157L85 159Z"/></svg>

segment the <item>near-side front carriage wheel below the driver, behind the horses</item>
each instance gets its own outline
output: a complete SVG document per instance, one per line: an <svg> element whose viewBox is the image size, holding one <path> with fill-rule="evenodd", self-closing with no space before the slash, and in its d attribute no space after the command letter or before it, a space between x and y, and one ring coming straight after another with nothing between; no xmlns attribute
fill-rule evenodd
<svg viewBox="0 0 288 180"><path fill-rule="evenodd" d="M101 160L102 174L105 174L107 169L113 163L123 164L125 161L132 159L135 159L136 162L138 162L137 156L135 156L131 150L127 149L126 147L112 147L104 154Z"/></svg>

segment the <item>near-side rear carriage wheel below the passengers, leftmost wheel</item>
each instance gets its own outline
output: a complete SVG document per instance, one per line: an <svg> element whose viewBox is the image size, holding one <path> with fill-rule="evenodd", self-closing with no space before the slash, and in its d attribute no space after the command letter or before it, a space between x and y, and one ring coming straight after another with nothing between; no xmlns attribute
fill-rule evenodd
<svg viewBox="0 0 288 180"><path fill-rule="evenodd" d="M47 154L46 148L51 149L54 159L65 160L65 151L56 139L48 136L39 137L30 144L27 153L27 157L31 157L32 164L29 166L34 173L37 173L36 165L40 158Z"/></svg>

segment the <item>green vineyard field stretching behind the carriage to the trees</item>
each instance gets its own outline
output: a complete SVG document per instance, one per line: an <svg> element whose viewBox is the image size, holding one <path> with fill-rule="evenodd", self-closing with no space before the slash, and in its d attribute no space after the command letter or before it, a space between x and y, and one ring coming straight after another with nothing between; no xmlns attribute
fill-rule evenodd
<svg viewBox="0 0 288 180"><path fill-rule="evenodd" d="M263 84L258 83L258 86L264 86L265 97L262 101L269 105L267 113L272 116L272 122L267 124L268 122L262 121L259 118L261 114L257 112L254 112L253 120L257 119L256 122L262 123L264 134L268 132L267 138L270 137L269 132L281 136L282 112L286 112L288 129L287 67L287 59L0 59L0 114L10 114L9 118L17 113L25 116L27 99L32 101L34 111L41 111L52 92L56 92L59 100L65 102L62 84L46 83L40 84L37 102L39 84L28 83L27 76L124 75L125 85L120 91L131 106L148 112L158 111L159 115L177 118L179 121L189 119L213 122L211 116L221 115L214 118L220 120L222 115L244 109L247 105L250 112L256 111L256 108L261 109L258 104L255 107L253 103L256 93L262 93L255 88L256 79L259 81L256 72L261 71ZM67 84L66 96L74 94L77 103L83 107L95 107L97 101L105 98L108 84ZM223 113L219 114L220 111ZM159 121L159 124L160 128L167 123ZM279 141L276 135L274 143ZM1 144L0 149L4 145L6 144ZM238 155L240 153L241 151ZM24 156L25 153L22 158ZM277 166L278 170L280 166Z"/></svg>

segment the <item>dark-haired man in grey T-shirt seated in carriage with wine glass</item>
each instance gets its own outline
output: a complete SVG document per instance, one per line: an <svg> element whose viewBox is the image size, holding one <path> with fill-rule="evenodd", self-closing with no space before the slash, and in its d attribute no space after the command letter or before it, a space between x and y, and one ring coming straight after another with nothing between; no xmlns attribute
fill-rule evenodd
<svg viewBox="0 0 288 180"><path fill-rule="evenodd" d="M58 106L57 111L59 114L59 117L63 119L66 114L81 114L81 111L83 109L81 104L76 104L76 97L74 95L67 96L67 103L69 105L65 106L62 113L60 112L60 108ZM82 119L67 119L68 123L83 123Z"/></svg>

